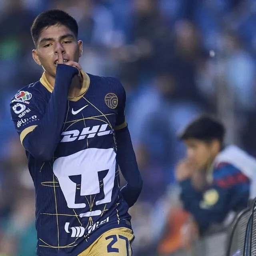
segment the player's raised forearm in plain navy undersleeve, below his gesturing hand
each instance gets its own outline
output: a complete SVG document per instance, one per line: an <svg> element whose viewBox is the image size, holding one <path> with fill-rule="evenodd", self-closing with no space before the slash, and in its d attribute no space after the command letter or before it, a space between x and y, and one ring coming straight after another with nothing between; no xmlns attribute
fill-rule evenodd
<svg viewBox="0 0 256 256"><path fill-rule="evenodd" d="M63 121L66 114L68 91L72 78L78 70L59 64L52 96L46 112L36 128L26 135L23 146L34 158L50 160L59 142Z"/></svg>

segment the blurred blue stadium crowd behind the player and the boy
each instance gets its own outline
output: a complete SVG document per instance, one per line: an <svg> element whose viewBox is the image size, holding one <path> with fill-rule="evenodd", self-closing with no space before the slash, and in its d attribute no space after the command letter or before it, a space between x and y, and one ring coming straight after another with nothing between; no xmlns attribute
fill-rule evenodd
<svg viewBox="0 0 256 256"><path fill-rule="evenodd" d="M184 147L178 130L210 112L226 124L226 143L256 156L256 1L0 0L0 252L8 256L35 256L33 184L9 102L40 78L30 25L49 8L78 21L84 71L116 76L126 89L144 180L130 209L134 254L156 256L169 210L179 204L174 167Z"/></svg>

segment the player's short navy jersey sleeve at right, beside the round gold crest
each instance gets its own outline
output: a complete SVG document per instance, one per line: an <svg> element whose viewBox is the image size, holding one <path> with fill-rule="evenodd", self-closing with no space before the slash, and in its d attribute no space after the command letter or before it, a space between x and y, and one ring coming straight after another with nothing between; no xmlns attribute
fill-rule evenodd
<svg viewBox="0 0 256 256"><path fill-rule="evenodd" d="M125 104L126 104L126 92L122 84L120 84L120 93L118 95L118 106L116 114L115 130L121 130L127 126L125 118Z"/></svg>

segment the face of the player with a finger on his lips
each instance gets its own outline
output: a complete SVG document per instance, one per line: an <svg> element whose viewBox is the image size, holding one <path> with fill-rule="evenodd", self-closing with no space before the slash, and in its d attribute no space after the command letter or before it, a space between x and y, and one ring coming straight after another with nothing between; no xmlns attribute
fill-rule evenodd
<svg viewBox="0 0 256 256"><path fill-rule="evenodd" d="M54 25L44 28L37 42L37 49L32 55L37 64L42 66L46 74L55 77L58 64L58 54L62 54L64 62L78 62L82 55L82 41L64 25Z"/></svg>

